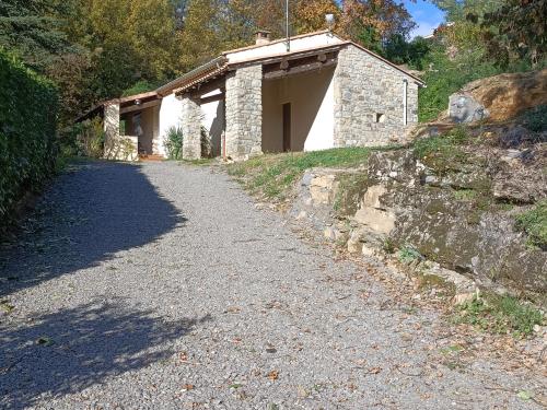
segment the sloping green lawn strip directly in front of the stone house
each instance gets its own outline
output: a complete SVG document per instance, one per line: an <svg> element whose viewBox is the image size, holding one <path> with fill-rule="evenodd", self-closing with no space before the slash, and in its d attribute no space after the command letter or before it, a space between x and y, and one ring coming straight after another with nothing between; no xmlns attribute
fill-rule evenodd
<svg viewBox="0 0 547 410"><path fill-rule="evenodd" d="M356 167L365 165L374 150L393 148L340 148L325 151L266 154L231 164L229 174L238 178L254 194L283 199L305 169L313 167Z"/></svg>

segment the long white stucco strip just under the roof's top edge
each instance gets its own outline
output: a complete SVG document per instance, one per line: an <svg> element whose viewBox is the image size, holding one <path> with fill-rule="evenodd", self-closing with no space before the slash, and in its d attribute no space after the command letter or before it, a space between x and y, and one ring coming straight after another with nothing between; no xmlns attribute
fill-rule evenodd
<svg viewBox="0 0 547 410"><path fill-rule="evenodd" d="M291 52L306 50L315 47L326 47L344 43L337 36L330 33L319 33L312 36L291 39ZM286 42L275 42L274 44L264 45L261 47L249 48L246 50L229 52L226 58L230 63L248 60L253 58L272 56L287 52Z"/></svg>

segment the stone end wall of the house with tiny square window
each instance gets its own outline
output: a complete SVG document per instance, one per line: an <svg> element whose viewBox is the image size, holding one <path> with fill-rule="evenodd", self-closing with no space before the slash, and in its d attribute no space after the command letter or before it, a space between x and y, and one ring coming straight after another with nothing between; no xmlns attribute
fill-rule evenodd
<svg viewBox="0 0 547 410"><path fill-rule="evenodd" d="M407 126L404 125L404 80ZM412 78L349 45L335 71L335 147L384 145L400 141L418 122L418 84Z"/></svg>

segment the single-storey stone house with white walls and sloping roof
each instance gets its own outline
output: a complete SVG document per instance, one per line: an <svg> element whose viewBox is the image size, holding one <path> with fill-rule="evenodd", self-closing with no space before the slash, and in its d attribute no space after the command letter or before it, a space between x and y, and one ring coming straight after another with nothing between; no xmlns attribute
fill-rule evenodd
<svg viewBox="0 0 547 410"><path fill-rule="evenodd" d="M253 46L225 51L154 92L103 103L86 117L104 116L110 157L164 155L165 133L177 126L185 159L202 156L205 131L210 154L237 161L396 141L418 121L423 85L328 31L290 42L258 32ZM132 154L119 145L133 147Z"/></svg>

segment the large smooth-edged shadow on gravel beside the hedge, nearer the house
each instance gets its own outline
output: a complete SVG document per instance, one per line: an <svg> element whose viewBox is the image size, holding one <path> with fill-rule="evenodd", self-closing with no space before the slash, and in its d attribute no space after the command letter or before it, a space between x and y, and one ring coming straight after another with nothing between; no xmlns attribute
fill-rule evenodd
<svg viewBox="0 0 547 410"><path fill-rule="evenodd" d="M44 195L19 243L0 248L0 296L96 266L185 221L139 165L90 162L73 168Z"/></svg>

